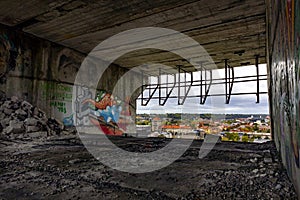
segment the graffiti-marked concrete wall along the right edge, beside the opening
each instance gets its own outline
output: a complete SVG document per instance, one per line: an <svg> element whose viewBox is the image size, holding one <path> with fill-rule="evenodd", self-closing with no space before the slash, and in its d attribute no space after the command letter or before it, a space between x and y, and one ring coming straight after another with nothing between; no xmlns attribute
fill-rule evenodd
<svg viewBox="0 0 300 200"><path fill-rule="evenodd" d="M267 5L273 137L300 195L300 1Z"/></svg>

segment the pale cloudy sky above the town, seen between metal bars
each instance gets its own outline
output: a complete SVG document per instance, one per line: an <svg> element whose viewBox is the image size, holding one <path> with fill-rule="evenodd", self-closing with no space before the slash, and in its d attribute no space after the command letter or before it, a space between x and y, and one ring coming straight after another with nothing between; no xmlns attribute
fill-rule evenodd
<svg viewBox="0 0 300 200"><path fill-rule="evenodd" d="M260 74L267 74L266 65L259 66ZM224 69L213 71L214 78L223 78ZM245 66L234 68L235 77L256 75L255 66ZM194 80L199 79L197 74ZM211 87L210 93L224 93L224 85L214 85ZM260 91L267 92L267 81L260 81ZM234 83L232 93L256 92L256 82ZM177 91L174 89L174 95ZM156 93L155 95L158 95ZM199 87L192 88L189 95L199 95ZM215 113L215 114L269 114L268 95L260 95L260 103L256 103L256 95L234 95L231 96L229 104L225 104L225 96L209 97L204 105L199 103L199 98L187 98L184 105L177 105L177 98L168 99L165 106L159 106L158 100L151 100L147 106L141 106L140 100L137 101L137 113L147 114L165 114L165 113Z"/></svg>

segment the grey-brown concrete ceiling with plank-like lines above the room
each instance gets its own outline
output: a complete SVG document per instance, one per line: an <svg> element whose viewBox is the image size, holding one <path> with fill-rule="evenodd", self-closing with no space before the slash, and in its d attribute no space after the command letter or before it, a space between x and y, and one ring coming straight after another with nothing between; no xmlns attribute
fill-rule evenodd
<svg viewBox="0 0 300 200"><path fill-rule="evenodd" d="M170 28L198 41L222 68L224 59L234 67L254 64L255 55L266 63L265 7L265 0L2 0L0 23L86 54L128 29ZM133 51L115 63L131 68L149 61L191 69L157 49Z"/></svg>

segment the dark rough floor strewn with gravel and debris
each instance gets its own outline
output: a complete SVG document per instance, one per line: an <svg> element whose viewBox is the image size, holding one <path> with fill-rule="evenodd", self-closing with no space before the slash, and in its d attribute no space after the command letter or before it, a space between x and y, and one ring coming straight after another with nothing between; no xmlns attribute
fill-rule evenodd
<svg viewBox="0 0 300 200"><path fill-rule="evenodd" d="M111 140L130 151L167 143ZM272 142L223 142L199 159L201 144L166 168L129 174L99 163L76 136L0 140L0 199L297 199Z"/></svg>

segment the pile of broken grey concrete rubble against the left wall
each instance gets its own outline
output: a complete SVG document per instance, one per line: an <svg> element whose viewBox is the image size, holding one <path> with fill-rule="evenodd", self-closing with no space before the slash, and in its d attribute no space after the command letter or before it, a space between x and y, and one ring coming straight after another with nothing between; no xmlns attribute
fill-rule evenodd
<svg viewBox="0 0 300 200"><path fill-rule="evenodd" d="M59 135L63 124L47 118L45 112L27 101L0 94L0 132L7 139L40 138Z"/></svg>

